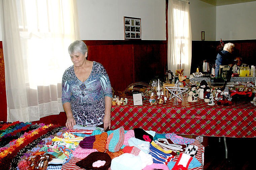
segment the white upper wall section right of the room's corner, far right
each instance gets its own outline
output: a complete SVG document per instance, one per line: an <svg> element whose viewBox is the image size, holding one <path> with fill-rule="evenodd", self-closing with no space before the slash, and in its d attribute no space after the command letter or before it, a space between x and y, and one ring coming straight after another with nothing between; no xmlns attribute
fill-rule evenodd
<svg viewBox="0 0 256 170"><path fill-rule="evenodd" d="M256 39L256 2L218 6L216 40Z"/></svg>

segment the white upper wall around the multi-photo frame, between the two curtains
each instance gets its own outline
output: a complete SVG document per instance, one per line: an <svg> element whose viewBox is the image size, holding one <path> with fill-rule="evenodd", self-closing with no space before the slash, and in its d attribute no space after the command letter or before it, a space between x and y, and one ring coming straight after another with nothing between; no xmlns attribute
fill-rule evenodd
<svg viewBox="0 0 256 170"><path fill-rule="evenodd" d="M82 40L124 40L124 16L141 18L142 40L166 40L165 0L77 0Z"/></svg>

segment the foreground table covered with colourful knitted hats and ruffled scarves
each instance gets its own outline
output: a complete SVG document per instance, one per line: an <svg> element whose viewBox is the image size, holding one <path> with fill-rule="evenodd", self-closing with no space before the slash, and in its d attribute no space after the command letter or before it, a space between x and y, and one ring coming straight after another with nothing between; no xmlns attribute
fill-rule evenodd
<svg viewBox="0 0 256 170"><path fill-rule="evenodd" d="M1 169L203 169L198 140L142 128L112 129L0 122Z"/></svg>

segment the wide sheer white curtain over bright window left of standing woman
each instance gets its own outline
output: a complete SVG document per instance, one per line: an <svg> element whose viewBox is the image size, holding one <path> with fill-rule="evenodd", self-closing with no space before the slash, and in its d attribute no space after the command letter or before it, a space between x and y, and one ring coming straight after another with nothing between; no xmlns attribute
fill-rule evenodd
<svg viewBox="0 0 256 170"><path fill-rule="evenodd" d="M61 79L79 39L75 0L2 0L7 121L63 112Z"/></svg>

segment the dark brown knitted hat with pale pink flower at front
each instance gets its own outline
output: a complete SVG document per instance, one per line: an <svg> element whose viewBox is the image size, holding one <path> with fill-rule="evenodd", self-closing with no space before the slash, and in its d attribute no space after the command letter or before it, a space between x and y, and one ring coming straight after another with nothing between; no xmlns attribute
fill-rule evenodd
<svg viewBox="0 0 256 170"><path fill-rule="evenodd" d="M105 162L103 162L105 161ZM95 163L101 162L101 166L95 166ZM75 163L76 166L91 170L107 170L111 165L111 158L108 154L102 152L93 152L86 158Z"/></svg>

